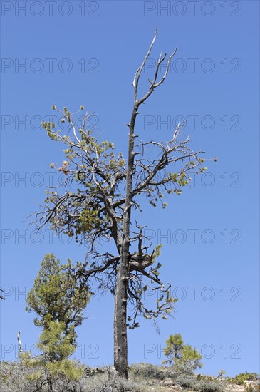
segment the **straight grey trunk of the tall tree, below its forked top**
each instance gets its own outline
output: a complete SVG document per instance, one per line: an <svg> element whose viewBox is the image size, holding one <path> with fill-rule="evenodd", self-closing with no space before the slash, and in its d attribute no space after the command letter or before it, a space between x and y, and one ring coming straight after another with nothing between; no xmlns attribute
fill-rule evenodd
<svg viewBox="0 0 260 392"><path fill-rule="evenodd" d="M118 376L128 378L128 334L127 334L127 302L130 253L130 216L132 205L132 175L134 172L134 142L135 118L137 104L134 104L128 134L128 171L126 175L125 209L123 215L123 239L120 268L115 291L115 319L114 319L114 361Z"/></svg>

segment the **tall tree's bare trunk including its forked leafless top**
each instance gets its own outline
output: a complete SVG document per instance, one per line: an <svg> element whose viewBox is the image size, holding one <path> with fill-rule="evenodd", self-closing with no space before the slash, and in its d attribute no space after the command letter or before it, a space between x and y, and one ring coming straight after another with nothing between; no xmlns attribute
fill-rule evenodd
<svg viewBox="0 0 260 392"><path fill-rule="evenodd" d="M170 61L172 56L175 55L176 50L169 56L167 61L167 67L164 76L157 81L157 75L160 68L160 64L165 60L165 56L160 54L155 68L155 76L153 81L150 81L149 91L140 100L137 99L137 87L139 83L140 74L145 66L147 58L150 56L150 51L155 43L157 35L157 27L155 29L155 36L152 39L150 48L142 61L140 68L135 73L135 78L132 83L134 86L134 105L132 110L131 121L128 125L128 167L126 174L125 184L125 208L123 212L123 227L122 227L122 247L120 249L120 267L118 271L118 279L115 290L115 319L114 319L114 360L115 369L118 371L118 376L128 378L128 335L127 335L127 303L128 303L128 279L130 272L130 217L132 207L132 177L135 170L135 120L138 114L138 108L140 104L145 103L145 100L150 97L152 92L160 86L167 76L169 71Z"/></svg>

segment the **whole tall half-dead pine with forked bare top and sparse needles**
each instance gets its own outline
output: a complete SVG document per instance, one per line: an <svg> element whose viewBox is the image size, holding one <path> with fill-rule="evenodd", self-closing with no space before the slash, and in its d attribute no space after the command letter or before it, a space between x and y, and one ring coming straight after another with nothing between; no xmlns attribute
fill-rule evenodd
<svg viewBox="0 0 260 392"><path fill-rule="evenodd" d="M51 225L57 234L64 232L74 236L77 242L88 247L84 262L68 269L75 282L91 290L93 279L102 290L110 290L115 296L114 314L114 365L119 376L128 378L128 334L127 329L139 326L138 316L151 319L156 324L160 315L166 319L176 299L170 295L170 284L163 284L159 278L161 264L156 262L160 245L154 249L145 236L144 226L131 220L141 210L141 203L150 202L163 208L167 203L163 197L175 193L180 195L182 187L189 184L189 173L204 172L203 151L189 147L189 137L182 133L182 125L172 130L167 141L142 141L135 133L135 123L142 104L165 81L175 51L166 59L160 54L150 86L141 98L138 95L140 76L155 43L137 69L133 80L134 102L128 133L128 158L114 153L113 143L100 142L89 130L91 115L85 113L78 125L77 114L68 108L54 110L61 113L61 122L69 125L70 133L62 135L54 123L43 123L48 136L66 145L66 160L62 165L51 163L53 170L63 172L61 187L48 190L45 204L36 213L36 223L41 229ZM166 60L165 60L166 59ZM166 62L165 73L159 78L160 66ZM152 158L147 158L147 151ZM214 158L216 160L216 158ZM143 197L145 196L145 197ZM135 221L135 222L134 222ZM113 252L104 252L103 240L110 239ZM147 284L160 295L155 309L143 301Z"/></svg>

